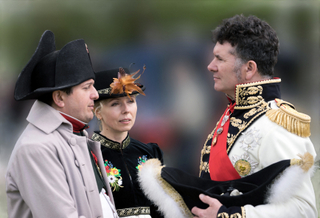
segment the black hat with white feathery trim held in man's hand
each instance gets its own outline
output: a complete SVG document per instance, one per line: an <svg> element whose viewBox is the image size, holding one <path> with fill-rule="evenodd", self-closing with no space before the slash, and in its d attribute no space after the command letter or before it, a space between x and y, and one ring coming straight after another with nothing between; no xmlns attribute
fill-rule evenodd
<svg viewBox="0 0 320 218"><path fill-rule="evenodd" d="M138 173L138 179L144 194L165 217L172 214L193 217L193 207L208 208L199 199L200 194L216 198L226 207L286 201L294 195L291 190L302 185L300 181L304 181L304 177L310 176L306 172L313 165L313 156L306 153L300 157L276 162L247 177L230 181L199 178L176 168L161 166L157 159L149 159ZM177 215L180 213L181 216Z"/></svg>

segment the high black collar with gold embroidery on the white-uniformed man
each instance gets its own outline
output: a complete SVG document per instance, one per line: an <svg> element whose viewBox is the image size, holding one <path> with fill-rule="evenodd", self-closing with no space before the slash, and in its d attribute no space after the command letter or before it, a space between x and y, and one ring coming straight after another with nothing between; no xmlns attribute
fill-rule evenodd
<svg viewBox="0 0 320 218"><path fill-rule="evenodd" d="M253 108L261 103L281 98L280 78L251 83L241 83L235 87L235 99L227 96L230 103L236 103L235 109Z"/></svg>

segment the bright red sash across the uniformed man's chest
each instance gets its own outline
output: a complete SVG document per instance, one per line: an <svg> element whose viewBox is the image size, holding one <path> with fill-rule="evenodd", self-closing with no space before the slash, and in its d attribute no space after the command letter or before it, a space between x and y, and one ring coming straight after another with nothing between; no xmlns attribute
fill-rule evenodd
<svg viewBox="0 0 320 218"><path fill-rule="evenodd" d="M209 157L209 169L210 177L215 181L228 181L234 179L240 179L239 173L233 167L229 156L227 154L227 136L230 124L230 118L225 121L221 126L225 115L230 116L234 110L235 103L229 105L223 113L217 127L213 134L210 157ZM219 129L222 128L222 132L218 134ZM221 131L221 130L220 130ZM215 140L216 138L216 140Z"/></svg>

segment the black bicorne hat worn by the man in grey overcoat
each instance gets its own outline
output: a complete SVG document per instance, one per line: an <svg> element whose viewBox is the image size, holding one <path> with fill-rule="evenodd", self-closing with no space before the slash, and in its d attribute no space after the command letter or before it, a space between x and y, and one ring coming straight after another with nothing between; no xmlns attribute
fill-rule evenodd
<svg viewBox="0 0 320 218"><path fill-rule="evenodd" d="M16 100L38 99L55 90L76 86L94 79L84 40L67 43L56 51L54 34L46 30L38 47L16 82Z"/></svg>

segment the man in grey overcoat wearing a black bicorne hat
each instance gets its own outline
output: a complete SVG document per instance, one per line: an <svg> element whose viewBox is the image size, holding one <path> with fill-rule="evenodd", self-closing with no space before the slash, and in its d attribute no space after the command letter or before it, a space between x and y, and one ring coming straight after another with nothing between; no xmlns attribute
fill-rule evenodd
<svg viewBox="0 0 320 218"><path fill-rule="evenodd" d="M93 118L94 71L83 40L56 51L45 31L18 77L16 100L36 99L6 173L9 218L118 217Z"/></svg>

